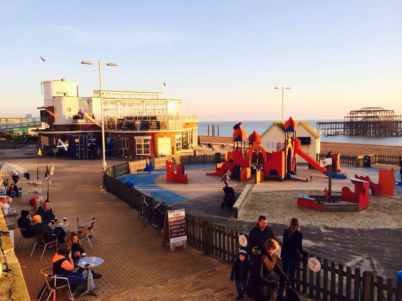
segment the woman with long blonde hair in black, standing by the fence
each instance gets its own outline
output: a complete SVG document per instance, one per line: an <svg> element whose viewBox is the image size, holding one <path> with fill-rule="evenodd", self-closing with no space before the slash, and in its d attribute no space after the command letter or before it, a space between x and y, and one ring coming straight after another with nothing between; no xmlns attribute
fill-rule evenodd
<svg viewBox="0 0 402 301"><path fill-rule="evenodd" d="M295 273L297 267L297 259L299 254L303 257L308 257L308 253L303 250L301 243L303 241L303 234L300 232L300 225L297 218L292 218L289 225L283 231L283 246L281 252L282 269L284 273L289 270L290 286L295 286Z"/></svg>

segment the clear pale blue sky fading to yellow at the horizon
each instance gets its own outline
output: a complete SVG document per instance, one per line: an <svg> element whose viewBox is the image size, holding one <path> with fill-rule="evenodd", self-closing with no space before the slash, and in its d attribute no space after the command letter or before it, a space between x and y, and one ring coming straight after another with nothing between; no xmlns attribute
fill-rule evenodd
<svg viewBox="0 0 402 301"><path fill-rule="evenodd" d="M42 80L162 92L201 121L402 114L401 1L0 1L0 117L43 106ZM285 117L286 118L286 117Z"/></svg>

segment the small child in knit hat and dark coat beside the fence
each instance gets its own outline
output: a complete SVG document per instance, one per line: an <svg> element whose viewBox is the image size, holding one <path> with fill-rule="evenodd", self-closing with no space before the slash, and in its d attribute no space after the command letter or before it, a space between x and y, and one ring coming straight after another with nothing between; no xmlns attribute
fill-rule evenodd
<svg viewBox="0 0 402 301"><path fill-rule="evenodd" d="M241 249L236 261L232 266L230 273L230 281L235 281L238 296L236 300L242 299L243 294L247 291L248 270L251 269L251 264L247 260L246 250ZM242 290L243 286L243 290Z"/></svg>

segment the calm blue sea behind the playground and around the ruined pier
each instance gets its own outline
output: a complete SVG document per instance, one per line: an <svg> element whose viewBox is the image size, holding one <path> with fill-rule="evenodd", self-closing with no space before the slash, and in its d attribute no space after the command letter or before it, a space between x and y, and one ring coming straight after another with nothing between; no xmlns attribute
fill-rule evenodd
<svg viewBox="0 0 402 301"><path fill-rule="evenodd" d="M271 124L277 120L252 120L252 121L241 121L242 128L251 134L255 130L258 134L262 135ZM299 122L300 120L296 120ZM332 119L332 120L303 120L308 122L312 128L317 130L317 122L331 122L337 121L342 122L343 119ZM219 136L231 137L233 133L233 126L239 123L238 120L235 121L200 121L198 124L198 134L208 135L208 125L209 125L209 135L212 136L212 125L215 125L215 136L218 135L217 126L219 125ZM402 146L402 137L372 137L372 136L350 136L350 135L338 135L338 136L324 136L321 135L322 142L342 142L342 143L361 143L361 144L377 144L377 145L398 145Z"/></svg>

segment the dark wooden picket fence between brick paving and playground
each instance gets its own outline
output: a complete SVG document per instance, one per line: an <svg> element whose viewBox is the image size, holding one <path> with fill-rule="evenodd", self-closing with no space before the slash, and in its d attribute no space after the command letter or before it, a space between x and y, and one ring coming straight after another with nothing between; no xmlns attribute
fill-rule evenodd
<svg viewBox="0 0 402 301"><path fill-rule="evenodd" d="M119 171L113 171L117 167ZM127 168L127 164L126 164ZM150 208L158 203L140 191L115 179L114 174L128 173L121 164L108 169L106 189L131 208L138 210L143 198ZM172 209L164 204L162 212ZM223 226L186 214L187 244L203 250L206 254L217 256L228 262L234 262L240 247L238 232ZM244 234L248 238L248 234ZM313 254L310 254L314 257ZM321 263L321 270L313 272L308 268L307 260L299 258L296 269L295 288L310 298L324 301L402 301L402 283L395 287L392 279L375 276L371 272L336 264L328 259L316 257Z"/></svg>

